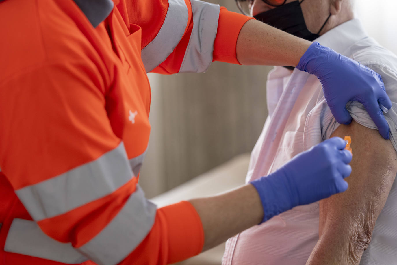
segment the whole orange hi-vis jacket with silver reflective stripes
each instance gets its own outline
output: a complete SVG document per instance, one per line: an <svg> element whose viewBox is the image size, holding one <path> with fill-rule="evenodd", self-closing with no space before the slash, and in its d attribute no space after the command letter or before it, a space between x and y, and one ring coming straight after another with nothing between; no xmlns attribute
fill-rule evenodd
<svg viewBox="0 0 397 265"><path fill-rule="evenodd" d="M137 184L146 72L236 63L250 19L198 0L0 1L0 264L166 264L198 254L186 201Z"/></svg>

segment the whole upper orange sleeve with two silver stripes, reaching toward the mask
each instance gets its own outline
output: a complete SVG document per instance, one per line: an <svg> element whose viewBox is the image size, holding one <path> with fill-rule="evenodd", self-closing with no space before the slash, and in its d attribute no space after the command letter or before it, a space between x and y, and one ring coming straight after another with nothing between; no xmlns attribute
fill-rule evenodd
<svg viewBox="0 0 397 265"><path fill-rule="evenodd" d="M146 72L205 72L215 60L239 64L237 37L252 17L202 1L176 2L121 0L118 4L127 26L134 23L142 28Z"/></svg>

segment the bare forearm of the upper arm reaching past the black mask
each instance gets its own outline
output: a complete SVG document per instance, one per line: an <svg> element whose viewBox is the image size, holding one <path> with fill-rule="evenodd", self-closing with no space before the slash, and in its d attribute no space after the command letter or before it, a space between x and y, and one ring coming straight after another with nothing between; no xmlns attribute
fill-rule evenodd
<svg viewBox="0 0 397 265"><path fill-rule="evenodd" d="M260 21L249 20L237 39L237 60L244 65L297 66L310 44Z"/></svg>

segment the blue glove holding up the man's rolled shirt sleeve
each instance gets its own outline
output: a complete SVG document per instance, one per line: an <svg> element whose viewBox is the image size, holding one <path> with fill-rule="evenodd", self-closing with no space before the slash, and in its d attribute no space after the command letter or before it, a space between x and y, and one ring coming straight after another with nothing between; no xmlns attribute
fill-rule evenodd
<svg viewBox="0 0 397 265"><path fill-rule="evenodd" d="M349 124L352 119L346 103L358 101L374 120L380 135L389 139L389 125L379 104L389 109L391 101L378 73L317 42L309 46L296 68L320 80L325 100L337 122Z"/></svg>

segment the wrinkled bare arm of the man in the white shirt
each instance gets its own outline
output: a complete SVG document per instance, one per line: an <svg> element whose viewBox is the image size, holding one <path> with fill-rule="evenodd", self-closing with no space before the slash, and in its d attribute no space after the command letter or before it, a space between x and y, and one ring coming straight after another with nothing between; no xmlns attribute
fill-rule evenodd
<svg viewBox="0 0 397 265"><path fill-rule="evenodd" d="M397 172L397 154L378 131L353 121L331 135L351 135L349 188L320 201L319 240L306 265L358 265Z"/></svg>

